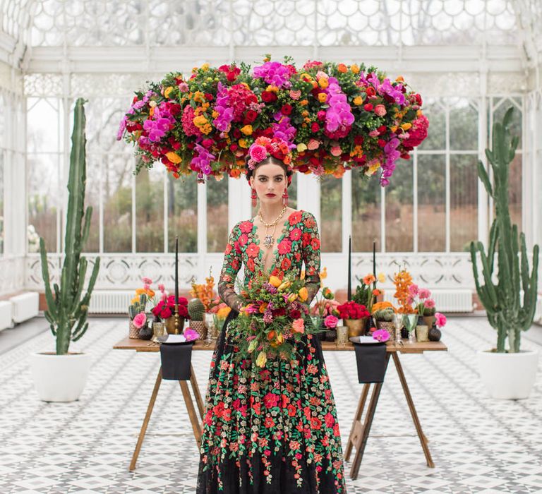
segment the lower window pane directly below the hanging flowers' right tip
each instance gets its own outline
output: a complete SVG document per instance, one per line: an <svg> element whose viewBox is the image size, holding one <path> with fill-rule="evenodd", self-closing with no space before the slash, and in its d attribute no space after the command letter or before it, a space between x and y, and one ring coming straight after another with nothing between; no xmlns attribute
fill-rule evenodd
<svg viewBox="0 0 542 494"><path fill-rule="evenodd" d="M418 252L446 250L445 162L418 155Z"/></svg>

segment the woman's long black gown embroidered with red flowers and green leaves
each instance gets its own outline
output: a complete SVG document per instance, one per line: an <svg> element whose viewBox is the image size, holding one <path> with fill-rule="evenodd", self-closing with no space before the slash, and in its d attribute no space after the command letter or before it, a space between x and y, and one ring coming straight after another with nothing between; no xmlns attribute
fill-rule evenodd
<svg viewBox="0 0 542 494"><path fill-rule="evenodd" d="M301 275L305 263L307 303L320 288L320 239L309 212L284 222L271 274ZM241 307L234 290L244 264L245 284L262 266L253 220L231 231L218 283L234 310L212 356L200 447L198 494L345 493L337 411L318 339L306 335L295 361L234 361L227 326Z"/></svg>

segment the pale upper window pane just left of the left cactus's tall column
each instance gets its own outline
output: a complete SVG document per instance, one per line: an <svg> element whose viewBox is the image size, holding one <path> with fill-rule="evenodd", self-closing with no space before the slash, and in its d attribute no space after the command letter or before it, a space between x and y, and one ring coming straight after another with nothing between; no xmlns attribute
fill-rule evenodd
<svg viewBox="0 0 542 494"><path fill-rule="evenodd" d="M28 152L59 152L59 102L56 98L28 98Z"/></svg>

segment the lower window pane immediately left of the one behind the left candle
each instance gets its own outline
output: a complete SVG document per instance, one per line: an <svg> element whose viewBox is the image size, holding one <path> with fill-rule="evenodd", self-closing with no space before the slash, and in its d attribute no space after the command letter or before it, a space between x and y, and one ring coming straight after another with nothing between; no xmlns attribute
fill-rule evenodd
<svg viewBox="0 0 542 494"><path fill-rule="evenodd" d="M164 252L164 167L135 177L135 251Z"/></svg>

